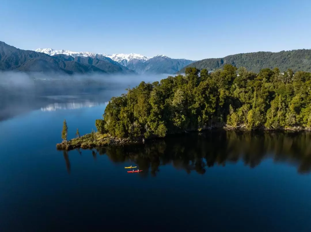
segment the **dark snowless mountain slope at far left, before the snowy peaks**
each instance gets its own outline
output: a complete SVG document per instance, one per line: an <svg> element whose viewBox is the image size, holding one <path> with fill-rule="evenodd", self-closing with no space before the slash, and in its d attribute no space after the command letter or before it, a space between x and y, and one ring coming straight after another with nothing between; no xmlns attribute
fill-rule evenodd
<svg viewBox="0 0 311 232"><path fill-rule="evenodd" d="M109 58L107 58L109 59ZM109 60L89 57L87 60L71 56L49 56L42 52L22 50L0 41L0 69L25 72L75 73L134 73L134 71Z"/></svg>

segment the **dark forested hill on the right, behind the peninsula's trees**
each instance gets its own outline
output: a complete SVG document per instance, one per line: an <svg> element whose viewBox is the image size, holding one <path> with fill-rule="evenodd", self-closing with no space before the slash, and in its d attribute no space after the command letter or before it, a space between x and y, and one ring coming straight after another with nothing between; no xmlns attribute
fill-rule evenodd
<svg viewBox="0 0 311 232"><path fill-rule="evenodd" d="M226 56L224 58L211 58L199 60L181 69L184 73L187 67L207 69L213 71L221 69L225 64L237 68L245 67L249 71L258 73L261 69L278 67L281 72L287 69L295 71L311 72L311 49L299 49L292 51L269 52L259 51L251 53L240 53Z"/></svg>

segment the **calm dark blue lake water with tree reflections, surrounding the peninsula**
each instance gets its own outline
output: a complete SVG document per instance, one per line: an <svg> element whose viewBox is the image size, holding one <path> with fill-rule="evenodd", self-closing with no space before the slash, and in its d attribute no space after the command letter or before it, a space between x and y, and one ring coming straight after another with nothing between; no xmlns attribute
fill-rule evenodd
<svg viewBox="0 0 311 232"><path fill-rule="evenodd" d="M310 133L57 151L64 119L70 138L91 132L120 94L104 93L45 96L3 118L0 231L311 231Z"/></svg>

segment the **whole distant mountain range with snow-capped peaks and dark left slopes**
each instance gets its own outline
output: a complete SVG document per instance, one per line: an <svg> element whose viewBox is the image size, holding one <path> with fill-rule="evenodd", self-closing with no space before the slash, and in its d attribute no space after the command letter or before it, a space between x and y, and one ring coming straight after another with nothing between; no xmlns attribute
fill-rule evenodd
<svg viewBox="0 0 311 232"><path fill-rule="evenodd" d="M97 54L53 49L22 50L0 41L0 70L66 74L174 74L192 60L139 54Z"/></svg>

